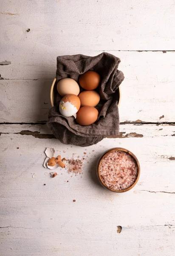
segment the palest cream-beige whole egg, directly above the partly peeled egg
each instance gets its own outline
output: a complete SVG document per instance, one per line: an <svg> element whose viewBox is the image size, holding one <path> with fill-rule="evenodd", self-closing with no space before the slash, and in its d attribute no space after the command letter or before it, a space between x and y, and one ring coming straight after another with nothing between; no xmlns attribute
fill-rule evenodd
<svg viewBox="0 0 175 256"><path fill-rule="evenodd" d="M63 78L57 83L57 91L61 96L67 94L79 95L79 85L71 78Z"/></svg>

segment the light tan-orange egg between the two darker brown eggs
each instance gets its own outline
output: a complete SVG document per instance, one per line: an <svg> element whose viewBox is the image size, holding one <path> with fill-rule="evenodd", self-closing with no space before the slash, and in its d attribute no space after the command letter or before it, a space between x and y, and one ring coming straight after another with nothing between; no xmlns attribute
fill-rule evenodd
<svg viewBox="0 0 175 256"><path fill-rule="evenodd" d="M99 93L97 93L94 90L83 91L82 93L79 94L78 97L81 102L81 107L83 106L95 107L100 101Z"/></svg>

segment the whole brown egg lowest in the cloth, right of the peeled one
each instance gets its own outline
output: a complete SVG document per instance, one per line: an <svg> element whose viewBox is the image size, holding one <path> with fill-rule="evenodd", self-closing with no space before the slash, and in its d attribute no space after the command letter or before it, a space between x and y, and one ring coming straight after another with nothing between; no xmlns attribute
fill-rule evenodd
<svg viewBox="0 0 175 256"><path fill-rule="evenodd" d="M79 125L91 125L98 118L98 110L94 107L84 106L76 113L76 122Z"/></svg>

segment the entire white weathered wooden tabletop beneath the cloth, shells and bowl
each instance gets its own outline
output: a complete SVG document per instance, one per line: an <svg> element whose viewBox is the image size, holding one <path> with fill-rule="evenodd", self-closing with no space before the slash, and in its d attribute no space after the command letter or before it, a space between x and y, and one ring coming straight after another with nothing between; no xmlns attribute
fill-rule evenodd
<svg viewBox="0 0 175 256"><path fill-rule="evenodd" d="M174 0L1 0L0 256L174 255L174 17ZM103 51L121 58L125 76L120 136L62 145L45 125L56 56ZM95 175L114 146L141 164L123 194ZM87 149L90 160L82 175L58 170L53 179L42 166L46 147L62 157Z"/></svg>

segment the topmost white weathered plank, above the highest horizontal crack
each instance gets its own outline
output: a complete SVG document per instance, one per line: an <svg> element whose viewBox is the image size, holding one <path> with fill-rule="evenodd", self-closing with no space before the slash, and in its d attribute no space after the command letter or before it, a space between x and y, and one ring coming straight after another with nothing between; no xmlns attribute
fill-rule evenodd
<svg viewBox="0 0 175 256"><path fill-rule="evenodd" d="M2 0L2 46L9 54L21 50L30 60L34 55L45 60L53 49L61 54L174 50L174 13L173 0Z"/></svg>

